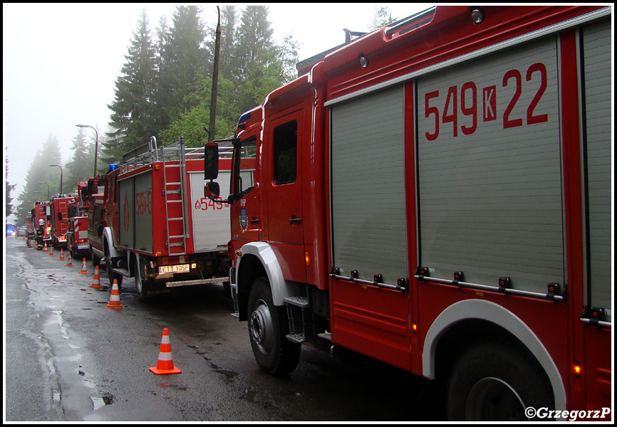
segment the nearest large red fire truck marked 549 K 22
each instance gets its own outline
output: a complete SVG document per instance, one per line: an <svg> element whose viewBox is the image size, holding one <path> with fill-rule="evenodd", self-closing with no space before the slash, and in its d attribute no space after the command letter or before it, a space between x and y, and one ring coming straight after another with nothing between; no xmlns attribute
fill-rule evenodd
<svg viewBox="0 0 617 427"><path fill-rule="evenodd" d="M437 6L242 116L230 280L264 371L323 337L447 384L451 420L611 419L611 14Z"/></svg>

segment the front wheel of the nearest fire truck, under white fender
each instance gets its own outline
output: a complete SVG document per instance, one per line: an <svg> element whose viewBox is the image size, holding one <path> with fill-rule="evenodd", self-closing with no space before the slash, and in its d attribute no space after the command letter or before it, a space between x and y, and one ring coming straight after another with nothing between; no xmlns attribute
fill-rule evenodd
<svg viewBox="0 0 617 427"><path fill-rule="evenodd" d="M282 310L281 310L282 308ZM257 278L249 294L249 338L259 367L268 374L281 376L296 369L301 344L285 338L289 333L284 307L276 307L266 278Z"/></svg>

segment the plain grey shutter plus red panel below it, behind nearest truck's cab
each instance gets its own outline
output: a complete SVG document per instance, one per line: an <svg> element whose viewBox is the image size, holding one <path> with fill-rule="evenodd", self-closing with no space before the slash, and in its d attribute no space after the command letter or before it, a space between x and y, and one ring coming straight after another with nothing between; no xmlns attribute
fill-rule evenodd
<svg viewBox="0 0 617 427"><path fill-rule="evenodd" d="M402 85L331 107L332 340L410 369L403 112Z"/></svg>

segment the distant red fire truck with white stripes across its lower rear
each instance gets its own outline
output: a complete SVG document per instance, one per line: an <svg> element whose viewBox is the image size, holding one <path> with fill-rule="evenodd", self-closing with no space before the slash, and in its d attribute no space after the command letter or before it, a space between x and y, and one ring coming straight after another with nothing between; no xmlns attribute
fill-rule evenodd
<svg viewBox="0 0 617 427"><path fill-rule="evenodd" d="M76 204L68 206L68 231L66 241L68 251L73 258L81 258L88 255L88 183L78 182Z"/></svg>

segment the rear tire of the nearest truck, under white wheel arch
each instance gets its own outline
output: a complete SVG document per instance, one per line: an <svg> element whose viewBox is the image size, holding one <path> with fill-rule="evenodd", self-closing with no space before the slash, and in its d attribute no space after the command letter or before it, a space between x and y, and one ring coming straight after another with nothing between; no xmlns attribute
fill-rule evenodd
<svg viewBox="0 0 617 427"><path fill-rule="evenodd" d="M483 342L455 362L447 390L449 421L527 421L528 407L554 409L549 379L528 352Z"/></svg>

